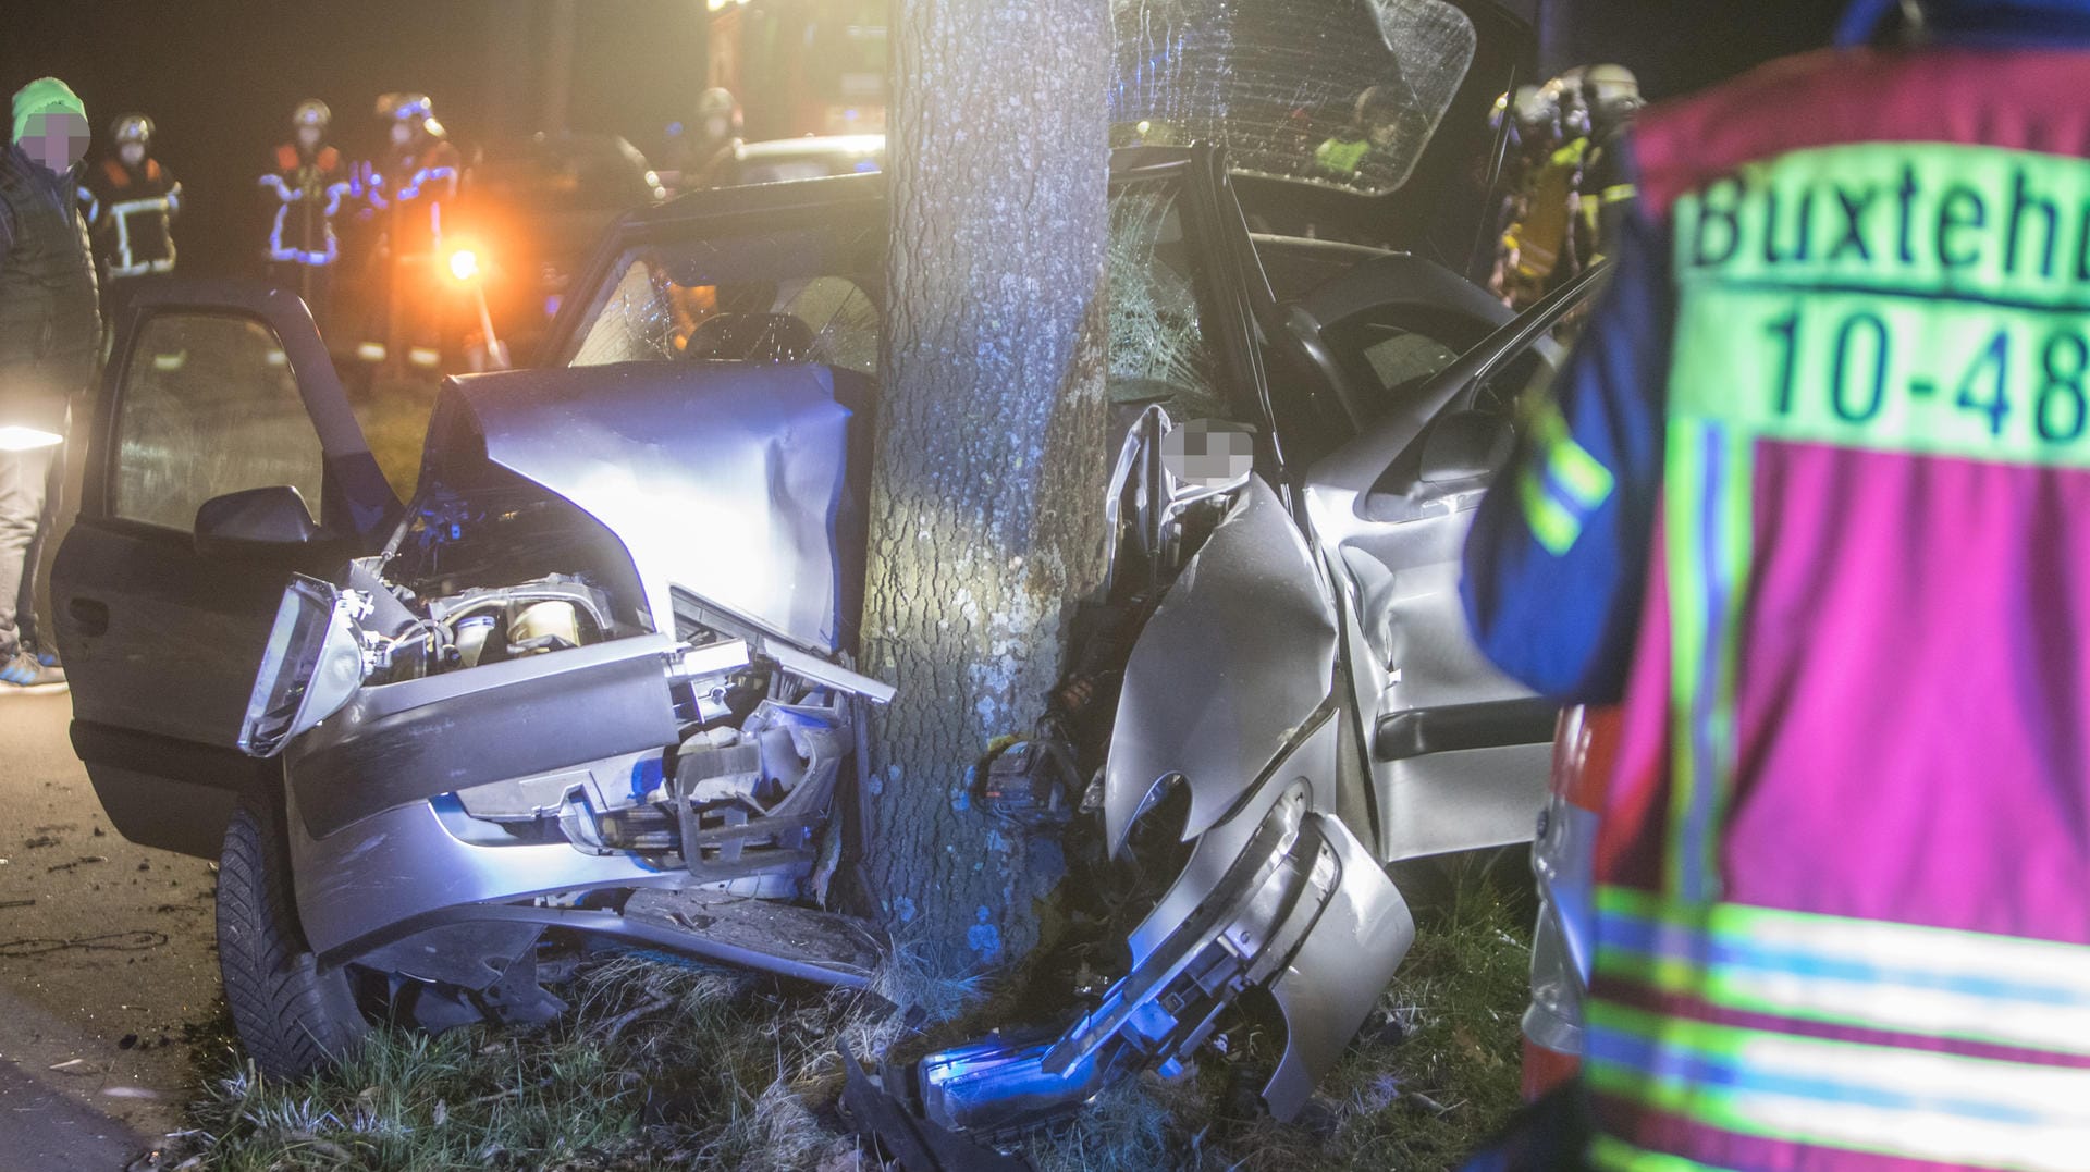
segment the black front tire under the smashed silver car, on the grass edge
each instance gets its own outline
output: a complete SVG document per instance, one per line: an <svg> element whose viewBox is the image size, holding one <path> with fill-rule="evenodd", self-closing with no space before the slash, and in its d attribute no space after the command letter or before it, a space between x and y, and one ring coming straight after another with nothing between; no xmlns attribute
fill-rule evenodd
<svg viewBox="0 0 2090 1172"><path fill-rule="evenodd" d="M217 969L255 1068L297 1078L370 1032L347 969L322 969L297 923L282 808L242 800L217 865Z"/></svg>

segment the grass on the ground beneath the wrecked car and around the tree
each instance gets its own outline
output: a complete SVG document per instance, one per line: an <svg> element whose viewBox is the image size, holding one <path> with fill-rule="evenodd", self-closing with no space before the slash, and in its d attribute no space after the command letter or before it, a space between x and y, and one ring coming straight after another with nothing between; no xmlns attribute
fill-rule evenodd
<svg viewBox="0 0 2090 1172"><path fill-rule="evenodd" d="M1476 869L1417 921L1398 980L1302 1120L1252 1109L1250 1061L1208 1059L1177 1082L1112 1088L1024 1153L1041 1172L1457 1166L1517 1105L1530 913L1513 882ZM895 1005L945 1017L984 990L932 982L903 948L869 994L629 955L564 992L575 1011L550 1026L387 1028L297 1082L257 1078L226 1030L159 1168L878 1168L834 1111L838 1040L884 1053L907 1030ZM1248 1026L1229 1036L1239 1055L1269 1045Z"/></svg>

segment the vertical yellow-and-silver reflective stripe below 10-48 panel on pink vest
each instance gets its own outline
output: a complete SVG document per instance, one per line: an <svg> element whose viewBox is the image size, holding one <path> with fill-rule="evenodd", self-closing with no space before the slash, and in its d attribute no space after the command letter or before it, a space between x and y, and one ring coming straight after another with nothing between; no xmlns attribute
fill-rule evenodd
<svg viewBox="0 0 2090 1172"><path fill-rule="evenodd" d="M1682 378L1682 372L1678 372ZM1670 577L1668 886L1718 898L1720 817L1739 746L1735 675L1751 556L1754 439L1724 422L1670 418L1664 533Z"/></svg>

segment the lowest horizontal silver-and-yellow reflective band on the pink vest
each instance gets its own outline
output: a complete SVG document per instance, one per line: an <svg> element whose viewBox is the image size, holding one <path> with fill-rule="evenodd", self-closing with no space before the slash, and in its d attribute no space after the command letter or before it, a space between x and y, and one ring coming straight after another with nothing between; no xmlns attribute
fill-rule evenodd
<svg viewBox="0 0 2090 1172"><path fill-rule="evenodd" d="M2090 1172L2090 1072L1804 1038L1588 1003L1588 1084L1697 1126L1825 1149Z"/></svg>

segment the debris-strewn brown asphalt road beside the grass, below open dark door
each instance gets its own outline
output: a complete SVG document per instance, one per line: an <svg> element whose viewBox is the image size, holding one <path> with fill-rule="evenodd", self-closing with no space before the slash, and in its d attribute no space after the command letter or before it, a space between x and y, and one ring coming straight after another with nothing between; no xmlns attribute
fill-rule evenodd
<svg viewBox="0 0 2090 1172"><path fill-rule="evenodd" d="M117 838L67 696L0 696L0 1170L123 1168L180 1124L217 1015L201 859Z"/></svg>

